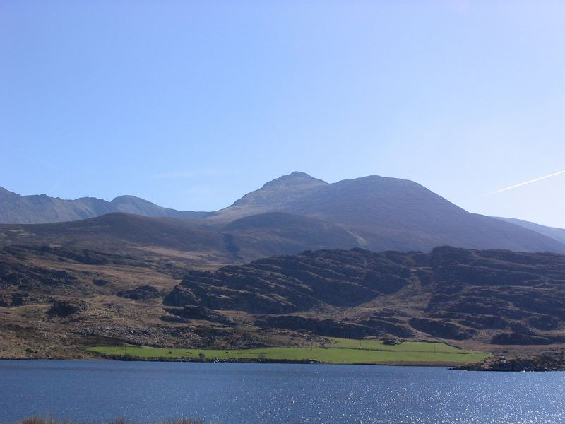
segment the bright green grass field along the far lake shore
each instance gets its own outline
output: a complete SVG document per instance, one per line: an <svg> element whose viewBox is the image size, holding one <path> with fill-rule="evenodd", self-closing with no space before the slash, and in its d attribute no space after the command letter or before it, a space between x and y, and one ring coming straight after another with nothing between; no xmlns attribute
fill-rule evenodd
<svg viewBox="0 0 565 424"><path fill-rule="evenodd" d="M194 359L200 354L206 360L317 360L331 364L359 363L473 363L488 357L487 353L462 351L443 343L406 341L394 346L381 341L332 338L335 343L312 348L258 348L239 351L211 349L169 349L139 346L95 346L88 350L102 355L140 359Z"/></svg>

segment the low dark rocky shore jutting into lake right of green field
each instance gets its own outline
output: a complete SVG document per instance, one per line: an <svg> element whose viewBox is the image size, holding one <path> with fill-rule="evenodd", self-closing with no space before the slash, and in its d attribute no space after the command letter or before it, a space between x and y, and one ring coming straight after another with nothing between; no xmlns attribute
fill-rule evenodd
<svg viewBox="0 0 565 424"><path fill-rule="evenodd" d="M465 371L565 371L565 351L547 351L526 357L489 358L480 363L454 367Z"/></svg>

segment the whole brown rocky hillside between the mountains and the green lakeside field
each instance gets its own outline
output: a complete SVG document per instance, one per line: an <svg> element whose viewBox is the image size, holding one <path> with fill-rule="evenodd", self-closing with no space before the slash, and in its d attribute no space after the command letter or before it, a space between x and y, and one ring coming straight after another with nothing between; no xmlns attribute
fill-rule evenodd
<svg viewBox="0 0 565 424"><path fill-rule="evenodd" d="M288 346L323 336L521 353L565 343L559 254L356 248L218 269L171 251L0 247L0 356L80 355L93 343Z"/></svg>

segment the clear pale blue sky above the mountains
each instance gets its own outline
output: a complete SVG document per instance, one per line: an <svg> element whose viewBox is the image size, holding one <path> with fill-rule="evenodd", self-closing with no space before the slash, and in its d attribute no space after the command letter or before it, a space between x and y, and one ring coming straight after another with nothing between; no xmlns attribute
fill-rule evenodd
<svg viewBox="0 0 565 424"><path fill-rule="evenodd" d="M565 227L563 1L0 2L0 186L213 210L293 170Z"/></svg>

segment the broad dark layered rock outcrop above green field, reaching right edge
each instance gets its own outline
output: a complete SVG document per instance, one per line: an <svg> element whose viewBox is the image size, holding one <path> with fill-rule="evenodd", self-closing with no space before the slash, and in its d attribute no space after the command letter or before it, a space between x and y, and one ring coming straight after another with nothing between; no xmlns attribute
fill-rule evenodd
<svg viewBox="0 0 565 424"><path fill-rule="evenodd" d="M453 247L304 252L191 271L165 304L242 311L259 326L325 336L545 345L565 341L565 257ZM340 316L344 309L353 312Z"/></svg>

